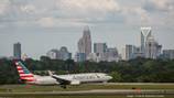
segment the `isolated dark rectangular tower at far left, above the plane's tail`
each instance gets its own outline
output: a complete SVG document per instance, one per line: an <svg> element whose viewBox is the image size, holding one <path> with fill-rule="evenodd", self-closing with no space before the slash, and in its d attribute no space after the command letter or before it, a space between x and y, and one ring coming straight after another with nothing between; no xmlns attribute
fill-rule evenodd
<svg viewBox="0 0 174 98"><path fill-rule="evenodd" d="M18 59L21 58L21 44L19 42L13 44L13 56Z"/></svg>

